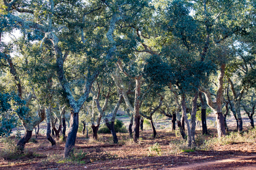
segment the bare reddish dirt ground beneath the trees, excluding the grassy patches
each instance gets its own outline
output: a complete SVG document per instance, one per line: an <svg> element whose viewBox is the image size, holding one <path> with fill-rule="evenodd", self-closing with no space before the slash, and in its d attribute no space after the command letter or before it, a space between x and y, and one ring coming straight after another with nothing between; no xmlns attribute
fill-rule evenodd
<svg viewBox="0 0 256 170"><path fill-rule="evenodd" d="M212 130L213 134L215 133ZM256 170L256 143L232 143L219 145L208 151L195 151L183 153L170 153L171 141L180 140L175 132L169 130L158 130L155 140L151 139L151 130L141 132L142 139L138 144L127 140L127 134L118 134L119 144L113 145L111 134L100 134L97 142L87 140L80 135L76 140L76 149L81 152L88 152L101 148L106 153L116 155L117 159L94 161L89 164L78 164L65 162L62 160L64 143L58 143L57 147L50 147L46 137L39 136L37 143L27 143L26 148L38 153L35 158L22 158L18 160L0 160L1 170L38 170L38 169L58 169L58 170L108 170L108 169L145 169L145 170ZM199 134L200 132L198 132ZM205 136L206 138L212 136ZM149 157L149 146L158 142L162 155ZM0 148L4 144L0 143Z"/></svg>

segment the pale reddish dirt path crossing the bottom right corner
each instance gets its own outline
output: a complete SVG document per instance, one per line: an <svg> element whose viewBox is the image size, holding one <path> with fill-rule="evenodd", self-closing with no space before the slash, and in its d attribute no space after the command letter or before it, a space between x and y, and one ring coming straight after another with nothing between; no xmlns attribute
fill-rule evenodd
<svg viewBox="0 0 256 170"><path fill-rule="evenodd" d="M256 154L253 155L243 155L243 156L234 156L228 159L210 161L210 162L201 162L193 163L183 166L177 166L175 168L166 168L163 170L217 170L217 169L226 169L226 170L256 170Z"/></svg>

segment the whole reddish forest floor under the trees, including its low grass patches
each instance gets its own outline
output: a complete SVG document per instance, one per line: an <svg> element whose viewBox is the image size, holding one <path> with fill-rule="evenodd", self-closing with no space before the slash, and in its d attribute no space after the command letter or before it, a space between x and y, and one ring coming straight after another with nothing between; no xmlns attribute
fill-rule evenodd
<svg viewBox="0 0 256 170"><path fill-rule="evenodd" d="M140 131L138 143L129 140L127 133L118 133L118 144L113 144L111 134L98 134L98 141L78 134L75 154L69 160L63 159L64 142L57 142L57 147L52 148L46 136L35 138L33 134L25 146L31 154L16 159L1 158L0 170L256 170L256 139L210 147L201 143L200 147L187 149L182 147L184 143L178 131L167 127L157 129L157 133L153 139L151 129ZM198 129L197 142L211 140L216 134L214 127L209 128L209 135L201 135ZM160 152L154 149L155 143L159 144ZM5 147L5 143L0 143L0 151Z"/></svg>

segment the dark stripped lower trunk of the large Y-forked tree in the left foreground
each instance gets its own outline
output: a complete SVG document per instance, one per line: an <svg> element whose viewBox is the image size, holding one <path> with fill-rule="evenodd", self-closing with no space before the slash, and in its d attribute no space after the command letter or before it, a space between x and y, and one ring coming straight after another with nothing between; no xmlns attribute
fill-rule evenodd
<svg viewBox="0 0 256 170"><path fill-rule="evenodd" d="M70 153L73 152L75 146L76 134L78 131L79 119L78 113L71 111L70 117L70 128L68 132L68 138L66 140L66 145L64 149L64 157L69 157Z"/></svg>

